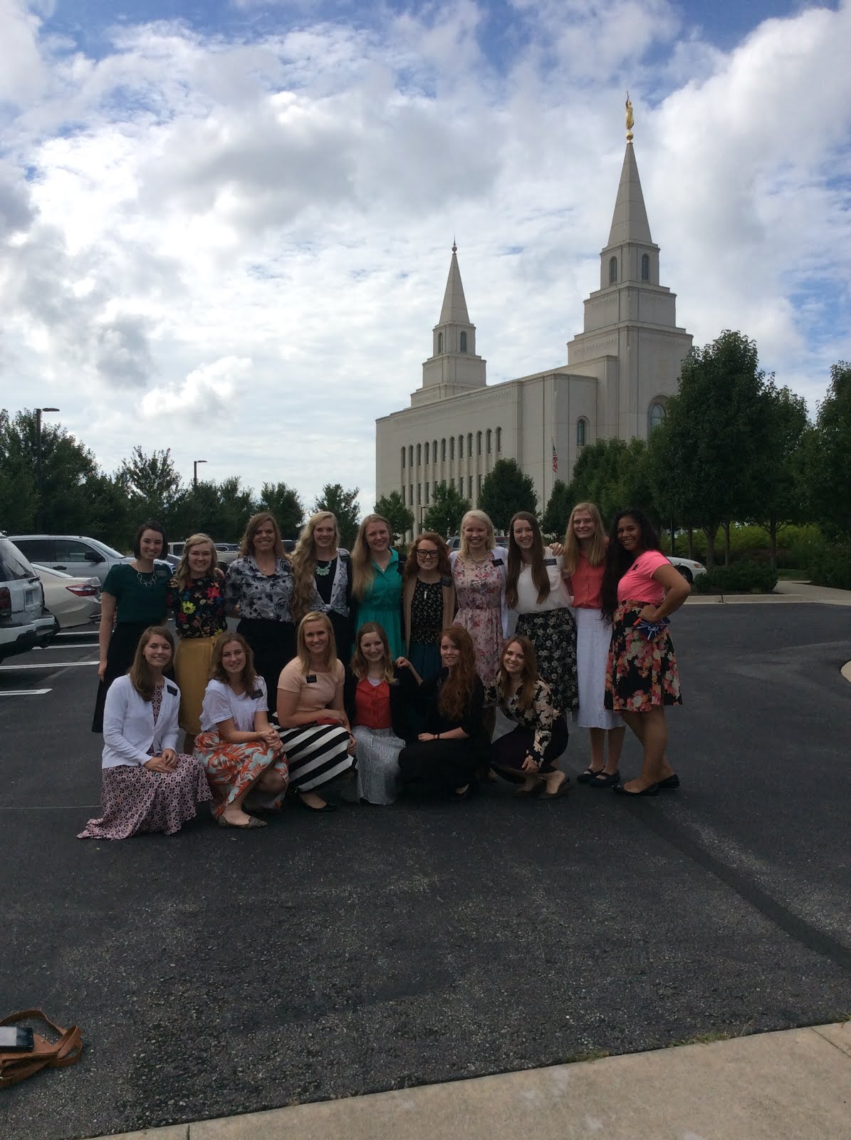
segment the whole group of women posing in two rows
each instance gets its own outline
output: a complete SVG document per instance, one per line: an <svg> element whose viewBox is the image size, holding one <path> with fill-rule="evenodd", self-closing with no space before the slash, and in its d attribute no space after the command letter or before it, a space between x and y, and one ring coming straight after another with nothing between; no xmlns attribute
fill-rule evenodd
<svg viewBox="0 0 851 1140"><path fill-rule="evenodd" d="M156 561L164 544L145 523L134 560L104 585L92 725L104 815L81 838L173 832L208 798L222 826L264 826L286 793L334 812L334 782L367 804L406 789L465 799L497 776L555 799L568 788L557 762L571 716L590 735L581 783L625 796L679 784L665 755L664 709L681 702L666 627L689 587L639 511L606 537L596 506L579 504L549 546L518 512L507 551L469 511L458 551L426 531L407 557L377 514L341 548L329 512L288 557L262 512L227 578L206 535L186 542L173 576ZM513 728L492 740L497 708ZM644 760L622 782L627 726Z"/></svg>

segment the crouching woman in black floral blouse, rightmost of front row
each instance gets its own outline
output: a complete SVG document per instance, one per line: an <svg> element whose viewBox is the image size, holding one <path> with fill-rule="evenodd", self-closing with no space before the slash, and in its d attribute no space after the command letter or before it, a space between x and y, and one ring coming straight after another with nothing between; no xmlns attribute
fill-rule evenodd
<svg viewBox="0 0 851 1140"><path fill-rule="evenodd" d="M484 692L517 725L491 744L490 764L506 780L521 787L517 796L540 791L541 799L564 796L568 781L555 762L567 747L567 725L553 691L538 676L534 646L529 637L513 637L502 649L499 673ZM525 780L523 780L525 776Z"/></svg>

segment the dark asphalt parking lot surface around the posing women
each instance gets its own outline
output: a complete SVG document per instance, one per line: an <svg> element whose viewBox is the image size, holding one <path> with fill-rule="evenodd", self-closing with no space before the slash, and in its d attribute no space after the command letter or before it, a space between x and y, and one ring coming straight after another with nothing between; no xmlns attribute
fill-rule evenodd
<svg viewBox="0 0 851 1140"><path fill-rule="evenodd" d="M672 633L679 792L494 785L116 844L75 838L100 788L93 640L5 661L0 1009L87 1045L0 1093L5 1140L850 1015L851 609L686 606ZM563 763L586 762L575 731Z"/></svg>

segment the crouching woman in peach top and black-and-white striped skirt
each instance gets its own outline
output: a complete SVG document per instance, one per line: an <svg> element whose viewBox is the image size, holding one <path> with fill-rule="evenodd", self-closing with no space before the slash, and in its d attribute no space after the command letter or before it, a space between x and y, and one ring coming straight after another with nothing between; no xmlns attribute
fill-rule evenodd
<svg viewBox="0 0 851 1140"><path fill-rule="evenodd" d="M304 614L296 648L298 656L284 667L278 681L278 724L289 784L302 807L336 812L317 792L351 768L354 738L343 708L345 669L337 660L327 614Z"/></svg>

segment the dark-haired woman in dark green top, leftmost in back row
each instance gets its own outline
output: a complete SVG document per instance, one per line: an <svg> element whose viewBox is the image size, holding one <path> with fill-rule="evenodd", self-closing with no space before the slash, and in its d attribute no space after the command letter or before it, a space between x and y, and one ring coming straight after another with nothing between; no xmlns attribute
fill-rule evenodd
<svg viewBox="0 0 851 1140"><path fill-rule="evenodd" d="M100 595L98 695L92 732L104 731L104 706L109 686L130 668L139 638L148 626L165 621L165 595L171 579L167 562L155 562L165 549L165 531L153 519L133 538L130 563L112 567Z"/></svg>

